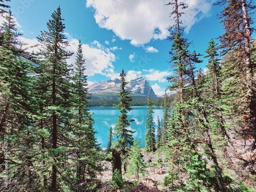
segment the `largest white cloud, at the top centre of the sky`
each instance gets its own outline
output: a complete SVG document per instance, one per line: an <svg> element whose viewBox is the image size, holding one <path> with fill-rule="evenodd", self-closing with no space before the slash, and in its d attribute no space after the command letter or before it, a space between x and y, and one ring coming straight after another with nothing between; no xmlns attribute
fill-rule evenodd
<svg viewBox="0 0 256 192"><path fill-rule="evenodd" d="M188 8L182 10L185 32L207 16L214 0L185 0ZM132 45L143 45L151 39L164 39L169 35L168 27L174 24L169 18L172 8L164 6L169 0L88 0L87 7L95 9L96 23L112 30L121 39L131 40Z"/></svg>

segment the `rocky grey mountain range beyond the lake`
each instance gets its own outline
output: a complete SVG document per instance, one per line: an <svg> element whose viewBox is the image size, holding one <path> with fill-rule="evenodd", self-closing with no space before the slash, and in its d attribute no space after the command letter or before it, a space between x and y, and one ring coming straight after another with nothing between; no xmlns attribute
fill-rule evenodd
<svg viewBox="0 0 256 192"><path fill-rule="evenodd" d="M103 80L89 86L88 87L89 93L92 93L92 94L119 93L121 91L120 84L121 84L120 79ZM143 77L139 77L137 79L133 79L129 81L128 84L125 86L125 90L131 91L132 93L140 94L140 95L148 95L148 92L150 92L151 97L157 97L150 83Z"/></svg>

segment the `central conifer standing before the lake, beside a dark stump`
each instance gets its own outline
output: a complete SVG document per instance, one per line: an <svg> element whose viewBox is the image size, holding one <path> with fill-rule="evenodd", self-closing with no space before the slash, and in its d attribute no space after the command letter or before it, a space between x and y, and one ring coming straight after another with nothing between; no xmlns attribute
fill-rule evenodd
<svg viewBox="0 0 256 192"><path fill-rule="evenodd" d="M122 69L122 72L120 73L120 80L121 80L121 91L120 91L120 97L118 100L120 101L119 104L115 105L117 109L120 110L120 115L117 117L117 123L115 126L115 132L114 136L117 137L117 141L113 143L112 148L113 150L113 159L117 158L117 162L120 162L120 155L122 156L122 159L124 161L123 163L123 169L124 172L126 172L126 162L125 162L125 155L127 155L128 151L130 150L131 145L133 144L133 133L134 131L131 131L127 129L131 122L134 121L134 119L127 119L127 113L132 110L131 108L131 95L130 91L125 91L125 86L127 82L125 81L126 74L124 73L124 70ZM113 160L115 161L115 160ZM113 162L113 173L115 167L118 167L120 174L122 174L121 166L118 165L118 163Z"/></svg>

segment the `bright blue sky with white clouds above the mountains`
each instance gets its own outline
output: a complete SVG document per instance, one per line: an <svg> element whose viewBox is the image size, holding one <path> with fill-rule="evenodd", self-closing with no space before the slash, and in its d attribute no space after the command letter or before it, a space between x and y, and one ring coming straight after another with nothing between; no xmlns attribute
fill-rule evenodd
<svg viewBox="0 0 256 192"><path fill-rule="evenodd" d="M58 6L61 8L68 50L76 52L81 39L86 74L90 84L100 80L119 78L122 70L127 80L144 77L155 93L162 95L172 75L169 54L172 42L166 40L171 7L166 0L11 0L8 3L17 20L21 38L29 45L36 44L40 31ZM193 42L190 50L204 54L211 38L223 33L216 15L221 7L212 6L214 0L184 0L185 36ZM216 39L216 41L218 41ZM36 51L37 48L33 50ZM75 56L75 55L74 55ZM74 62L75 57L68 62ZM198 68L205 68L207 59Z"/></svg>

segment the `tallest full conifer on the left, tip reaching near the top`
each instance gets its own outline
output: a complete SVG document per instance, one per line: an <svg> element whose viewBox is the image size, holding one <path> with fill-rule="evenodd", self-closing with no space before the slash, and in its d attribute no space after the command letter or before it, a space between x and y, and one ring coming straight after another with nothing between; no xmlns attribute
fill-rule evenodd
<svg viewBox="0 0 256 192"><path fill-rule="evenodd" d="M47 113L48 124L45 129L51 133L50 155L52 162L51 190L57 191L57 173L60 173L60 167L65 159L65 150L63 146L68 145L67 132L65 129L69 126L70 115L70 68L66 59L73 53L67 52L68 46L65 34L63 34L65 25L62 23L60 7L52 14L52 19L47 23L48 31L41 32L38 36L40 44L44 47L41 54L45 62L40 63L39 78L45 83L42 84L42 90L45 92L45 102L43 113ZM62 145L62 146L61 146Z"/></svg>

